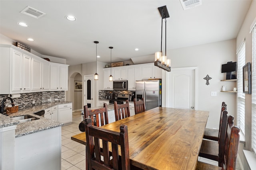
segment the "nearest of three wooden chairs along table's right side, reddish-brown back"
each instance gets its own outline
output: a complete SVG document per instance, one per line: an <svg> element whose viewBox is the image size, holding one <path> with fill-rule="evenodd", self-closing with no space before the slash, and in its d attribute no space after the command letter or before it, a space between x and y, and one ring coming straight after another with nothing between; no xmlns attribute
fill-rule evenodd
<svg viewBox="0 0 256 170"><path fill-rule="evenodd" d="M231 127L227 126L224 159L222 160L221 167L198 161L196 170L235 170L240 138L239 132L239 127L234 125Z"/></svg>

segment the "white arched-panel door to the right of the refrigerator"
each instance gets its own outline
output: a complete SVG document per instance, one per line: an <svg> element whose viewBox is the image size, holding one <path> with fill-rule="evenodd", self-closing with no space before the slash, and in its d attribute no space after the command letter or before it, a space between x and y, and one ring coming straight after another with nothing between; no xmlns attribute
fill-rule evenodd
<svg viewBox="0 0 256 170"><path fill-rule="evenodd" d="M197 67L172 68L166 74L166 107L197 109Z"/></svg>

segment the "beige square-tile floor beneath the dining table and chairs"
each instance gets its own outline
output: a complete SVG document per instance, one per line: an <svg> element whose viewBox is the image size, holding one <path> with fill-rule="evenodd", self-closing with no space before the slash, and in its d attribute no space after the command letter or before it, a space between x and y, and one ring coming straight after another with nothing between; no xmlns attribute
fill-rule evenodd
<svg viewBox="0 0 256 170"><path fill-rule="evenodd" d="M62 127L61 169L85 170L85 146L70 139L71 136L81 133L78 125L81 122L80 111L73 113L72 124ZM217 161L199 157L198 160L218 166ZM242 170L236 162L236 170Z"/></svg>

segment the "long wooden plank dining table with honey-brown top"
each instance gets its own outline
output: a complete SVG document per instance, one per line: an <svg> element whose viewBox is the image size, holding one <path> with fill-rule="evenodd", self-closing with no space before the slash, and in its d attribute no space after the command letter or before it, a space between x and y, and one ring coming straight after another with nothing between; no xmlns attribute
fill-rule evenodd
<svg viewBox="0 0 256 170"><path fill-rule="evenodd" d="M104 129L120 132L128 126L130 163L146 170L194 170L208 111L156 107L109 123ZM85 133L71 137L86 145Z"/></svg>

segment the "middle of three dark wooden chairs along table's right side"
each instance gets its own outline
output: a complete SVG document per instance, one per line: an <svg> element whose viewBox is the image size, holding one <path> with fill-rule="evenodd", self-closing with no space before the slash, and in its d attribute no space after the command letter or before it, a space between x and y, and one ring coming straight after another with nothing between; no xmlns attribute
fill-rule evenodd
<svg viewBox="0 0 256 170"><path fill-rule="evenodd" d="M220 135L218 141L203 140L199 156L208 158L211 160L218 161L218 166L221 166L223 154L224 154L224 143L226 135L226 127L228 122L227 117L228 111L224 110L222 113L222 122L220 126ZM231 116L231 115L230 115Z"/></svg>

